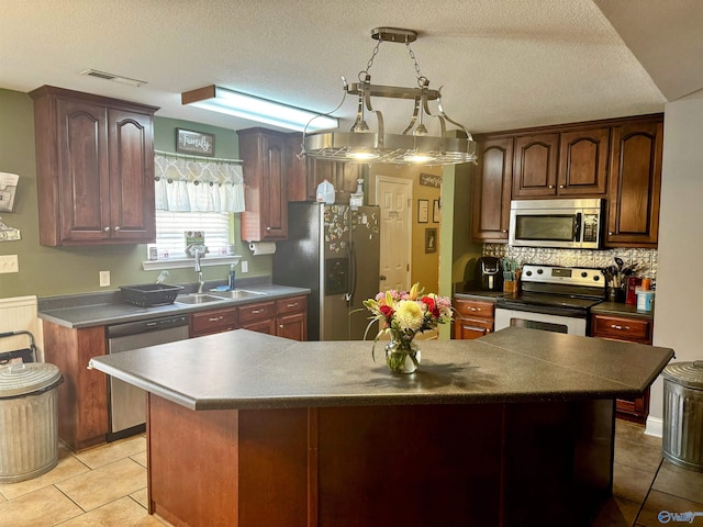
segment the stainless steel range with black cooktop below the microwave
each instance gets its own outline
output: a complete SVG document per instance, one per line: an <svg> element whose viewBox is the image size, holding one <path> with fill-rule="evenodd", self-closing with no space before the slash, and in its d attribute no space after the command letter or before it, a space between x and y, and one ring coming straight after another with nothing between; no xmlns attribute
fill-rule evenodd
<svg viewBox="0 0 703 527"><path fill-rule="evenodd" d="M521 326L585 336L590 309L605 299L600 269L526 264L522 291L495 304L495 330Z"/></svg>

